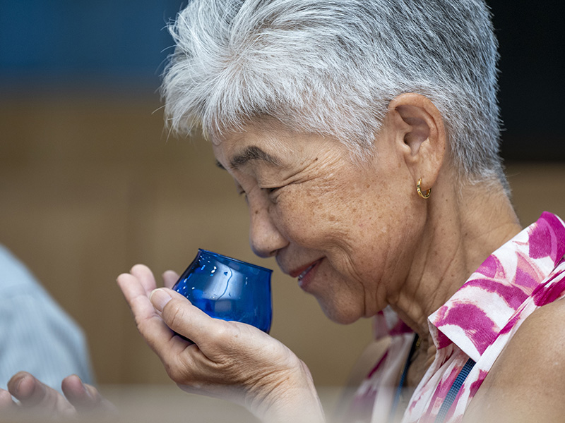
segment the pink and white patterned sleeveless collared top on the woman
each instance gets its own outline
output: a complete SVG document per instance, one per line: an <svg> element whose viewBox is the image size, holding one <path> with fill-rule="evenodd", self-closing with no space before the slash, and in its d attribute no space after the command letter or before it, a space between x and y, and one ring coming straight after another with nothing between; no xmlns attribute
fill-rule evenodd
<svg viewBox="0 0 565 423"><path fill-rule="evenodd" d="M435 422L448 391L471 358L444 422L460 422L470 400L505 345L535 309L565 296L565 223L540 219L492 253L463 286L428 318L436 357L412 394L402 422ZM386 422L413 335L390 309L376 319L376 337L388 350L357 390L354 421ZM369 405L368 405L369 404ZM368 409L368 407L370 409Z"/></svg>

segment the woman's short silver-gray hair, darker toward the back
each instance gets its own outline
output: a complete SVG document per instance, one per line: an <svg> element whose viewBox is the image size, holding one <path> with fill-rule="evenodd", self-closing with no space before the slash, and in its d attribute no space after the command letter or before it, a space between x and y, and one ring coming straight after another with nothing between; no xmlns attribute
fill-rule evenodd
<svg viewBox="0 0 565 423"><path fill-rule="evenodd" d="M504 180L497 42L482 0L193 0L169 25L169 126L219 137L261 117L364 157L391 99L429 97L453 163Z"/></svg>

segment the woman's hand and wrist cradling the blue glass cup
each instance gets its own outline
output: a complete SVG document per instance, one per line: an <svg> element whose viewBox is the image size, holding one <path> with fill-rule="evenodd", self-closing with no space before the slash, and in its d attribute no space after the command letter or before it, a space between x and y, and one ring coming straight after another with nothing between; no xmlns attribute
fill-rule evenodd
<svg viewBox="0 0 565 423"><path fill-rule="evenodd" d="M177 281L167 271L165 286ZM118 277L138 330L184 391L232 400L268 422L322 422L306 365L253 326L213 319L143 265ZM185 341L177 332L193 343Z"/></svg>

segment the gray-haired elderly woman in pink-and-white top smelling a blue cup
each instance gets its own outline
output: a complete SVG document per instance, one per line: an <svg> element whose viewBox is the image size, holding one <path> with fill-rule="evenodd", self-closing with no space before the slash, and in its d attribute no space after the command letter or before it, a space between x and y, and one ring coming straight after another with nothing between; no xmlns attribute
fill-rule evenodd
<svg viewBox="0 0 565 423"><path fill-rule="evenodd" d="M347 422L564 418L565 226L522 230L511 206L489 18L481 0L194 0L172 27L168 122L211 141L254 252L333 321L376 318ZM119 285L182 389L323 421L280 342L155 289L145 266Z"/></svg>

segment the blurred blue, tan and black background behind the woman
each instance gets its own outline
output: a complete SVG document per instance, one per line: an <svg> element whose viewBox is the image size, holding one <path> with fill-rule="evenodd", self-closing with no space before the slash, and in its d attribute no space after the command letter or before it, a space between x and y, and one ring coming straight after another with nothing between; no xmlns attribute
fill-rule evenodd
<svg viewBox="0 0 565 423"><path fill-rule="evenodd" d="M518 214L565 216L564 4L488 3ZM0 243L83 326L100 384L170 384L115 283L133 264L181 272L203 247L276 269L251 253L244 200L206 142L162 129L165 24L183 4L0 0ZM371 321L331 323L280 271L273 298L271 334L316 384L343 384Z"/></svg>

